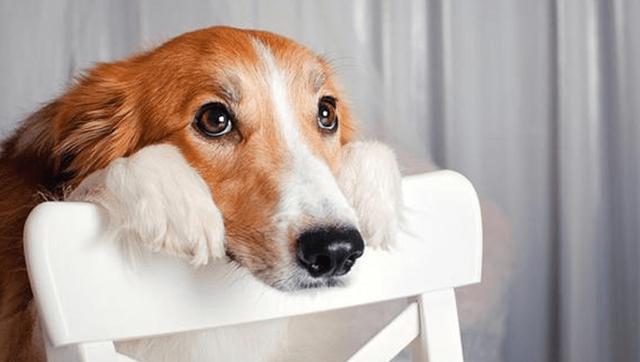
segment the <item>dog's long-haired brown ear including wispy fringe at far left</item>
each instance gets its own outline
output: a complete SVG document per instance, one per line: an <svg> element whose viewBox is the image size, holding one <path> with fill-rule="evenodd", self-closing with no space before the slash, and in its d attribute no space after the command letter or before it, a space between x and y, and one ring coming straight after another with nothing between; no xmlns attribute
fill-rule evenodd
<svg viewBox="0 0 640 362"><path fill-rule="evenodd" d="M139 147L141 127L126 72L118 64L102 64L81 76L23 123L7 151L23 159L46 159L52 189L77 185L130 155Z"/></svg>

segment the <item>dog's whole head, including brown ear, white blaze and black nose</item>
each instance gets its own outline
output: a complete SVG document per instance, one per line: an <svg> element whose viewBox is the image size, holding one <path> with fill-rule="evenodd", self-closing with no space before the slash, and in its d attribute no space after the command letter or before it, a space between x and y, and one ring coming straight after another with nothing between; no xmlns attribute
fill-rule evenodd
<svg viewBox="0 0 640 362"><path fill-rule="evenodd" d="M349 109L327 62L291 40L188 33L99 65L39 116L54 119L54 168L71 184L144 146L176 146L222 212L227 254L270 285L333 284L363 252L336 182Z"/></svg>

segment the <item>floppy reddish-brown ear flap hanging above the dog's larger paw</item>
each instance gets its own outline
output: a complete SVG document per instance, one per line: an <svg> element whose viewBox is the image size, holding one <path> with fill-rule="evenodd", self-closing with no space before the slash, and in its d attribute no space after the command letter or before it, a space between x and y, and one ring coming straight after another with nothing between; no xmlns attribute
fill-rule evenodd
<svg viewBox="0 0 640 362"><path fill-rule="evenodd" d="M124 71L100 65L53 103L52 155L60 182L77 184L137 148L140 123Z"/></svg>

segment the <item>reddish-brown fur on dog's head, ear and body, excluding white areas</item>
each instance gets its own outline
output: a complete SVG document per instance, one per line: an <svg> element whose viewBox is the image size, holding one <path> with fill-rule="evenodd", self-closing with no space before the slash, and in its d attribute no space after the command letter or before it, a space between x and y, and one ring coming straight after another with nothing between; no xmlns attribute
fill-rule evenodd
<svg viewBox="0 0 640 362"><path fill-rule="evenodd" d="M274 112L252 47L255 38L301 75L292 81L291 102L300 119L309 120L301 125L308 143L337 172L340 148L353 135L349 110L340 100L339 135L328 138L317 132L317 92L314 79L304 75L320 73L326 79L323 93L339 98L339 89L327 63L290 40L209 28L124 61L98 65L3 143L0 361L42 359L32 345L35 315L22 248L30 210L46 197L63 198L66 189L87 175L147 145L176 145L201 174L225 217L228 248L235 258L253 270L276 262L276 251L264 240L269 239L267 220L278 199L273 170L289 155L269 126ZM237 99L229 99L229 88L236 88ZM210 101L231 104L240 120L224 140L205 139L191 127L198 108Z"/></svg>

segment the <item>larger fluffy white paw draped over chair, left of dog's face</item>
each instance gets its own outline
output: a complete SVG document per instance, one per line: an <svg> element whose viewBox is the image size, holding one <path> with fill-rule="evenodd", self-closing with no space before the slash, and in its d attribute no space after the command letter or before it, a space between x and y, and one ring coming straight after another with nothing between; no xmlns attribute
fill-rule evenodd
<svg viewBox="0 0 640 362"><path fill-rule="evenodd" d="M67 198L107 210L127 243L206 264L224 256L223 218L209 188L180 151L148 146L87 177Z"/></svg>

